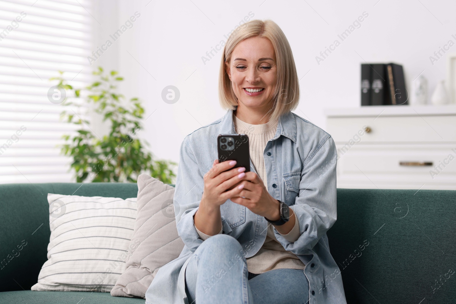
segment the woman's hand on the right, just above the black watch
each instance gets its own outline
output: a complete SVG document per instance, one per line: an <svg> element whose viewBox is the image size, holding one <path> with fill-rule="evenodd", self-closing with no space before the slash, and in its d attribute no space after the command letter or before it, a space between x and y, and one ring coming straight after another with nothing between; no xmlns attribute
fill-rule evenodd
<svg viewBox="0 0 456 304"><path fill-rule="evenodd" d="M271 221L280 219L279 201L266 191L263 180L255 172L245 172L243 181L238 183L236 187L244 187L244 189L237 196L232 197L231 201L246 206L253 213L264 216Z"/></svg>

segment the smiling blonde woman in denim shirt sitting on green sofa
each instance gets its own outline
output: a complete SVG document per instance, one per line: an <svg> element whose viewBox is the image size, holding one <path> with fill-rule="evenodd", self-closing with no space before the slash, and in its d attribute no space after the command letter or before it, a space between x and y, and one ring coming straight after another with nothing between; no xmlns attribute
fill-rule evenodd
<svg viewBox="0 0 456 304"><path fill-rule="evenodd" d="M225 116L181 145L174 204L185 247L146 303L346 303L326 237L337 218L336 148L290 112L299 83L273 21L228 38L219 95ZM251 171L218 162L218 134L249 136Z"/></svg>

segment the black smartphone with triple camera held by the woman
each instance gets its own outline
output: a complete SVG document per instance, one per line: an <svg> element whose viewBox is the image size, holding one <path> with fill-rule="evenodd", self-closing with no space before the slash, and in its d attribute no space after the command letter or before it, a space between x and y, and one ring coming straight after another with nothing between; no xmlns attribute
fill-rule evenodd
<svg viewBox="0 0 456 304"><path fill-rule="evenodd" d="M250 171L249 136L246 134L219 134L217 138L218 161L236 160L233 168L244 167Z"/></svg>

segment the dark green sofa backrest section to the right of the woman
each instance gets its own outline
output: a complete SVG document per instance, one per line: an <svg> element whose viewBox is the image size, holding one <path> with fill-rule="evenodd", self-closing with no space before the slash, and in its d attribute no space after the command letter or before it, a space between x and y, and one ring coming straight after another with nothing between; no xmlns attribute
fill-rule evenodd
<svg viewBox="0 0 456 304"><path fill-rule="evenodd" d="M327 234L347 303L456 300L456 191L337 189Z"/></svg>

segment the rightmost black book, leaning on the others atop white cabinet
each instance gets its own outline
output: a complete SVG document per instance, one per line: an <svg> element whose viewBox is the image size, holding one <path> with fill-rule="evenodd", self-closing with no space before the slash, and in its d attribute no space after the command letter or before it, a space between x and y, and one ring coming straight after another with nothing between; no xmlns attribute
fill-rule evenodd
<svg viewBox="0 0 456 304"><path fill-rule="evenodd" d="M384 104L409 104L409 92L405 88L404 69L401 65L385 65L386 92Z"/></svg>

